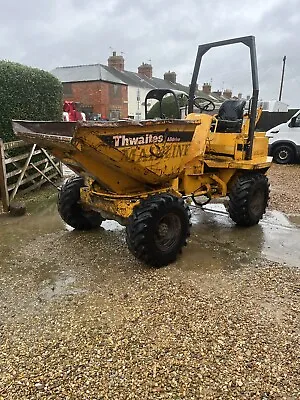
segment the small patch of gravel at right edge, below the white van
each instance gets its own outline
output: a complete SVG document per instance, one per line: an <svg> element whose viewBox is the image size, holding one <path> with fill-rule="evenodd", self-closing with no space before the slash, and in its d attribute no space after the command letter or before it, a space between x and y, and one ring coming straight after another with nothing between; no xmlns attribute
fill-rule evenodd
<svg viewBox="0 0 300 400"><path fill-rule="evenodd" d="M300 165L272 164L268 172L271 184L271 209L300 214Z"/></svg>

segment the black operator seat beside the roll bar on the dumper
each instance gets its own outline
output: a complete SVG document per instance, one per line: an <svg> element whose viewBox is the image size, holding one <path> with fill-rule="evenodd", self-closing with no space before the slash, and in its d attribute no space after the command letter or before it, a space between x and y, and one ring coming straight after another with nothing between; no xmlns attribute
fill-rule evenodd
<svg viewBox="0 0 300 400"><path fill-rule="evenodd" d="M246 100L225 100L217 115L217 132L241 132L245 105Z"/></svg>

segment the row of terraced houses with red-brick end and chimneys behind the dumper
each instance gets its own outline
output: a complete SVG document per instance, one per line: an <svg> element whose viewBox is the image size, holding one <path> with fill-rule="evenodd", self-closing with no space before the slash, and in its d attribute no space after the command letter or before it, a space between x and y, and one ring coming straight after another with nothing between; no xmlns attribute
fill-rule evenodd
<svg viewBox="0 0 300 400"><path fill-rule="evenodd" d="M154 77L152 65L142 63L137 72L124 69L124 58L116 52L108 58L108 65L91 64L58 67L52 72L63 84L64 100L81 103L87 117L99 114L102 118L144 119L144 99L154 88L173 89L189 93L189 87L177 82L175 72L168 71L163 78ZM196 96L207 98L216 105L231 98L232 92L213 92L204 83ZM151 102L150 102L151 103ZM150 106L152 103L150 104Z"/></svg>

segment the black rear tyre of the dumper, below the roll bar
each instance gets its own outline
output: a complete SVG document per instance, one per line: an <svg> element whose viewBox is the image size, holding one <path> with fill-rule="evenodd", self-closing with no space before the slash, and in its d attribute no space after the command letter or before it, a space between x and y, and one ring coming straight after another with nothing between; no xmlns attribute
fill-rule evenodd
<svg viewBox="0 0 300 400"><path fill-rule="evenodd" d="M240 226L257 224L266 212L269 193L266 175L247 173L238 177L229 193L231 219Z"/></svg>

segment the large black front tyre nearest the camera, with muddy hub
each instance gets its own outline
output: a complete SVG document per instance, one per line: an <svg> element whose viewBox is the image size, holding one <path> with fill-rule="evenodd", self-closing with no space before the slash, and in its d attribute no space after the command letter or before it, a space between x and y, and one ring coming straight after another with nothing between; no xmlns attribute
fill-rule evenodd
<svg viewBox="0 0 300 400"><path fill-rule="evenodd" d="M129 250L148 265L170 264L187 244L190 218L184 200L171 194L142 200L134 208L126 227Z"/></svg>

